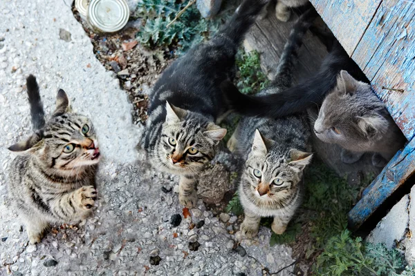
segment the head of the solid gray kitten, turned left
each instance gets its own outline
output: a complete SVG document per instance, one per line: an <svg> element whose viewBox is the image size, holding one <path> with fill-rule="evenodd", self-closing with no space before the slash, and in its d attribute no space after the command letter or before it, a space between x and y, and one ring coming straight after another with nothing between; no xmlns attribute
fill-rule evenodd
<svg viewBox="0 0 415 276"><path fill-rule="evenodd" d="M387 125L387 120L376 113L382 103L362 97L371 93L369 84L356 81L346 71L341 71L338 86L322 103L314 124L315 135L326 143L362 150Z"/></svg>

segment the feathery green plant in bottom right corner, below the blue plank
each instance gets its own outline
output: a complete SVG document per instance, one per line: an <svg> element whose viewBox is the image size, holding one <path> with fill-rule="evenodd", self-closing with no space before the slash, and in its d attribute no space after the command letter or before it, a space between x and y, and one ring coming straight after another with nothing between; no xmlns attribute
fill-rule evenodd
<svg viewBox="0 0 415 276"><path fill-rule="evenodd" d="M319 276L398 276L414 275L414 271L398 250L364 243L360 237L351 237L349 230L329 239L313 267Z"/></svg>

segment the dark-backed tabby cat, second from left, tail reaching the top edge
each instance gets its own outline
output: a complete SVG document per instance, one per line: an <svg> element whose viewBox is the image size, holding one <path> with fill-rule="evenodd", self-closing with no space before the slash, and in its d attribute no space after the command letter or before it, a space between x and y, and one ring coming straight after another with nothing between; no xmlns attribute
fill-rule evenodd
<svg viewBox="0 0 415 276"><path fill-rule="evenodd" d="M220 84L234 76L235 55L267 0L246 0L207 43L174 61L150 96L144 148L156 168L180 175L179 202L196 205L196 176L216 154L228 110Z"/></svg>

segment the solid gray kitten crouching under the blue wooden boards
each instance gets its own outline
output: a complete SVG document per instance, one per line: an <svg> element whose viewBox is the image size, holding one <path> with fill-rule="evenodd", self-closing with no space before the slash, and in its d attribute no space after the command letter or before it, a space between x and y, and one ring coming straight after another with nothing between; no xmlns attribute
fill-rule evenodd
<svg viewBox="0 0 415 276"><path fill-rule="evenodd" d="M324 99L314 132L320 140L342 146L341 159L347 164L374 152L372 164L385 166L407 141L371 86L345 70Z"/></svg>

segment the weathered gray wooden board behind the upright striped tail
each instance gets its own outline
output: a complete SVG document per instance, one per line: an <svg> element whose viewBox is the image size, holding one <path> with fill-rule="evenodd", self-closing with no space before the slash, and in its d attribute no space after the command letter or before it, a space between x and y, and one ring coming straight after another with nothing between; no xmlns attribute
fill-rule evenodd
<svg viewBox="0 0 415 276"><path fill-rule="evenodd" d="M275 75L284 45L297 18L297 14L292 14L290 21L278 21L272 9L268 12L266 19L257 20L246 36L246 43L244 43L246 48L252 48L261 53L261 67L267 73L268 78ZM317 68L320 68L324 56L327 55L326 47L311 32L306 33L303 42L299 50L299 62L295 66L295 83L299 79L313 75Z"/></svg>

